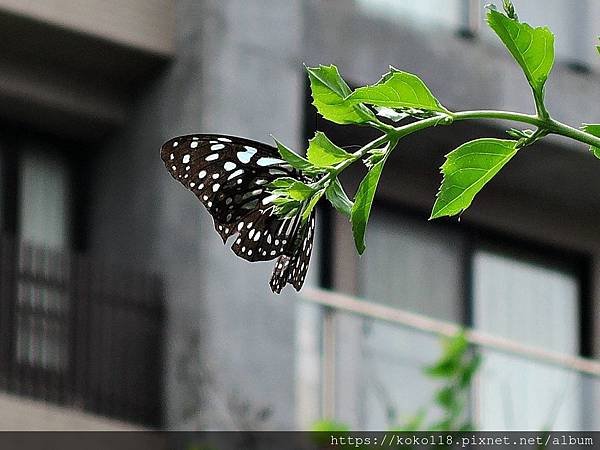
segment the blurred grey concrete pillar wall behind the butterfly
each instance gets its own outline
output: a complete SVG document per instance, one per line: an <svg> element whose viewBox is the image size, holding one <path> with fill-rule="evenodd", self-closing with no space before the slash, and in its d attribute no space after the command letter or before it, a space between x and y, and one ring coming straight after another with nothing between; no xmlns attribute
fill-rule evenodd
<svg viewBox="0 0 600 450"><path fill-rule="evenodd" d="M92 247L165 276L169 426L290 427L294 295L270 293L271 264L223 247L158 150L174 135L208 131L263 141L272 132L297 146L301 2L180 1L177 17L177 58L103 151ZM265 408L272 414L256 417Z"/></svg>

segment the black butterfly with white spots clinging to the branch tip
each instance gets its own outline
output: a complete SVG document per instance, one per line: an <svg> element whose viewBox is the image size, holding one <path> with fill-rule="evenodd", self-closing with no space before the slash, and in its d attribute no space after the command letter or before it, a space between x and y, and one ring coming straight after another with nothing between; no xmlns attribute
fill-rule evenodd
<svg viewBox="0 0 600 450"><path fill-rule="evenodd" d="M160 156L169 173L192 191L213 217L223 239L235 236L232 249L247 261L277 258L270 286L279 294L290 283L304 283L313 247L315 213L275 214L268 190L272 181L291 177L307 181L281 159L276 148L233 136L191 134L167 141Z"/></svg>

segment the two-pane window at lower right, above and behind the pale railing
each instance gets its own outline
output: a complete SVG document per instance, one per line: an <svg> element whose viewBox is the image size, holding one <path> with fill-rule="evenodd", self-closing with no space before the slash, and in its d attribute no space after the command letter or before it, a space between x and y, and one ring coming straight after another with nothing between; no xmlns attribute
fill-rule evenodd
<svg viewBox="0 0 600 450"><path fill-rule="evenodd" d="M543 247L530 252L522 250L529 244L485 230L385 211L377 205L369 223L369 249L358 271L361 297L470 322L489 335L545 351L580 353L582 258L556 256ZM344 368L336 378L338 413L353 411L347 418L353 426L377 429L429 403L438 386L422 376L422 368L439 355L437 337L343 312L337 317L335 358ZM473 385L471 410L479 429L583 427L589 405L576 370L481 351L485 363Z"/></svg>

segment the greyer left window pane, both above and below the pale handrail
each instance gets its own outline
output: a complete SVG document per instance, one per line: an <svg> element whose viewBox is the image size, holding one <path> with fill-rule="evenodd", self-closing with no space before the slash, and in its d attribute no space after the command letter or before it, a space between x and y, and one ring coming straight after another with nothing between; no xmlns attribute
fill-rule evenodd
<svg viewBox="0 0 600 450"><path fill-rule="evenodd" d="M461 321L460 234L376 208L367 239L360 260L362 297ZM350 314L339 314L336 326L336 417L357 428L381 429L429 403L438 386L423 377L423 367L438 357L438 337Z"/></svg>

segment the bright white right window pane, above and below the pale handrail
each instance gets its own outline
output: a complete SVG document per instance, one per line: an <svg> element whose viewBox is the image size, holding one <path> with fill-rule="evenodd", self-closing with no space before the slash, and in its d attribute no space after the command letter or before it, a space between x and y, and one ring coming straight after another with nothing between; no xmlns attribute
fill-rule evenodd
<svg viewBox="0 0 600 450"><path fill-rule="evenodd" d="M478 251L473 260L476 329L540 349L577 355L578 279L568 271ZM578 375L517 356L484 351L475 423L484 430L577 429Z"/></svg>

